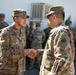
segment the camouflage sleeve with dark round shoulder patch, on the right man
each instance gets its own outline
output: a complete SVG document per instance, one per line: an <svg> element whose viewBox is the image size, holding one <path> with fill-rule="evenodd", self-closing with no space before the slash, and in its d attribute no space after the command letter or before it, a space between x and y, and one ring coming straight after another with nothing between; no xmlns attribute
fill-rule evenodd
<svg viewBox="0 0 76 75"><path fill-rule="evenodd" d="M69 60L69 45L70 38L66 32L59 32L54 38L54 56L55 61L51 69L51 73L57 74L57 72L63 70Z"/></svg>

